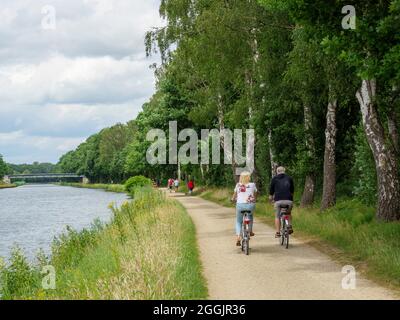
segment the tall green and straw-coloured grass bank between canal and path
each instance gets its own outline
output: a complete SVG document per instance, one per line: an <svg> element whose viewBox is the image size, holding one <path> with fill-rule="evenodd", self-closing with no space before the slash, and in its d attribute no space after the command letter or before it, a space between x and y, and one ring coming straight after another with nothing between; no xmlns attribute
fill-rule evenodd
<svg viewBox="0 0 400 320"><path fill-rule="evenodd" d="M89 230L69 230L52 257L29 265L19 251L0 267L4 299L204 299L207 290L192 221L184 208L149 188L114 217ZM56 271L56 289L41 286L42 266Z"/></svg>

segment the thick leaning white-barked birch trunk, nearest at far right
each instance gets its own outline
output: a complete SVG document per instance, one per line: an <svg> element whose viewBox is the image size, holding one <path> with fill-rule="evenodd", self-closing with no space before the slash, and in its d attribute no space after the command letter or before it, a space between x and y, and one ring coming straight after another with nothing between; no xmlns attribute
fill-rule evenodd
<svg viewBox="0 0 400 320"><path fill-rule="evenodd" d="M385 143L385 132L374 105L376 80L362 80L356 96L378 177L377 218L383 221L400 220L399 171L394 149Z"/></svg>

